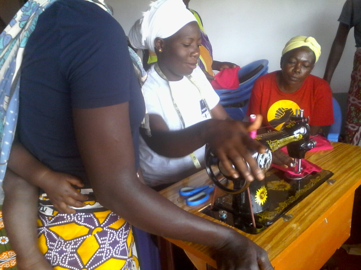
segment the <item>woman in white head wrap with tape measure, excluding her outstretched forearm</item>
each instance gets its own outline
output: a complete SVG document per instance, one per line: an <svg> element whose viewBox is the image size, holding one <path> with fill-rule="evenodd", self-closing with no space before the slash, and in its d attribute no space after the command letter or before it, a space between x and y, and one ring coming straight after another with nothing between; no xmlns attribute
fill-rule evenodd
<svg viewBox="0 0 361 270"><path fill-rule="evenodd" d="M219 120L230 118L197 66L200 29L184 3L179 0L158 1L144 13L141 21L135 24L142 33L138 42L142 42L143 48L155 52L158 61L149 68L143 86L153 135L140 139L140 167L145 183L159 189L204 168L205 146L190 154L184 153L183 157L164 157L157 152L166 145L159 144L154 134L187 129L212 117Z"/></svg>

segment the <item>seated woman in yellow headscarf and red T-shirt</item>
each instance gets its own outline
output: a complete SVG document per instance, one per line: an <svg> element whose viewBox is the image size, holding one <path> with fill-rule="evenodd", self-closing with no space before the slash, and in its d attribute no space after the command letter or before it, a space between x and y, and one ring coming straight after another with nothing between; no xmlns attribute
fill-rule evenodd
<svg viewBox="0 0 361 270"><path fill-rule="evenodd" d="M296 109L309 117L311 134L334 122L329 84L311 75L321 55L313 37L296 36L286 43L280 60L281 70L268 73L253 85L249 114L262 114L268 130L279 130Z"/></svg>

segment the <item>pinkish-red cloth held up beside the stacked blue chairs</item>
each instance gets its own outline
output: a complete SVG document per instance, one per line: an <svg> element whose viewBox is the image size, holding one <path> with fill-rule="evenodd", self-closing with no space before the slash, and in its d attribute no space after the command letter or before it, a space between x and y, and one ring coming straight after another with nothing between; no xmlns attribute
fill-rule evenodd
<svg viewBox="0 0 361 270"><path fill-rule="evenodd" d="M213 89L236 89L239 86L238 71L240 67L225 68L219 71L210 83Z"/></svg>

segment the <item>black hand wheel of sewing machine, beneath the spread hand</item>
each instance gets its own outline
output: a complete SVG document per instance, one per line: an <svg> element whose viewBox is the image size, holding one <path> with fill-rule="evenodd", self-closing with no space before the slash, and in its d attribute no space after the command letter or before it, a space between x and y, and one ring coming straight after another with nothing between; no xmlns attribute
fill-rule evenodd
<svg viewBox="0 0 361 270"><path fill-rule="evenodd" d="M214 174L212 166L217 165L217 167L219 168L219 172L218 174ZM239 179L234 179L230 176L226 176L222 173L221 168L219 167L219 159L213 155L213 153L210 151L210 148L207 148L206 152L205 152L205 169L206 172L209 176L209 178L213 181L213 183L218 186L218 188L222 189L223 191L225 191L226 193L229 194L238 194L243 192L244 190L246 190L249 187L249 184L251 182L249 181L245 181L244 180L244 184L240 187L240 188L236 188L236 189L230 189L227 188L225 185L223 185L221 182L218 181L219 176L223 176L229 180L239 180Z"/></svg>

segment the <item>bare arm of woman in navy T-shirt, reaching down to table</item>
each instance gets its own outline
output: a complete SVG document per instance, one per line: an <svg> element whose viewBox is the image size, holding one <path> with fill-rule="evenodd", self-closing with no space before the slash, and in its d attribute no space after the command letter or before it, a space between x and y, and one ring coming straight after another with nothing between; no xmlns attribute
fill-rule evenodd
<svg viewBox="0 0 361 270"><path fill-rule="evenodd" d="M217 248L219 267L273 269L267 253L248 238L182 210L140 183L134 165L128 103L73 109L73 116L87 175L104 207L149 233Z"/></svg>

